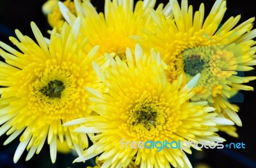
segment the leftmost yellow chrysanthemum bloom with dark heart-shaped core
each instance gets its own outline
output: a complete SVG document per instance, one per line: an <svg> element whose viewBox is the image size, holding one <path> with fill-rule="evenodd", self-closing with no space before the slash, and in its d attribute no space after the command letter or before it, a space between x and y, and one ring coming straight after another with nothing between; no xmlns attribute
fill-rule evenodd
<svg viewBox="0 0 256 168"><path fill-rule="evenodd" d="M90 115L88 95L84 87L100 87L99 78L92 67L90 53L81 48L86 39L77 43L81 18L73 27L64 24L61 34L53 29L49 46L36 27L31 23L38 44L16 30L19 41L10 38L18 50L0 42L0 136L10 135L4 144L20 136L15 151L17 162L25 149L29 150L26 160L42 149L45 139L50 146L51 160L56 160L58 139L67 141L78 155L88 146L86 134L77 134L75 127L62 127L62 123Z"/></svg>

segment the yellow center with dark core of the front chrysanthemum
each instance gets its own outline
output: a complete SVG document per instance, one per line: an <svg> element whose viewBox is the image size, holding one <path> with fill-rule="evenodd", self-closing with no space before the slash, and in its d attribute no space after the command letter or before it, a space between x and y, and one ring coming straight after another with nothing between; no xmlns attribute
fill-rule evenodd
<svg viewBox="0 0 256 168"><path fill-rule="evenodd" d="M177 101L177 97L173 97ZM175 106L175 104L172 104ZM180 111L172 109L166 102L164 95L159 98L155 93L144 90L133 104L125 105L127 108L121 118L124 137L133 141L148 141L172 137L182 122L179 121ZM174 117L175 116L175 117Z"/></svg>

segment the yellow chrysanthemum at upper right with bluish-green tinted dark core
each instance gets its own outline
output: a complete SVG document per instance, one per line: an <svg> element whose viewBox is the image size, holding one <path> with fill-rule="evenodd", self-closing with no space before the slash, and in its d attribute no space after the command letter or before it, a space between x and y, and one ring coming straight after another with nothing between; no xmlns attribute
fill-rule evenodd
<svg viewBox="0 0 256 168"><path fill-rule="evenodd" d="M240 19L230 17L221 25L226 1L218 0L204 21L204 4L193 15L188 0L182 0L181 9L176 0L170 0L174 18L167 18L160 11L150 10L155 25L152 31L145 31L143 37L134 37L145 48L154 47L168 64L168 80L177 80L181 73L188 79L201 73L194 91L193 100L209 101L220 115L232 119L241 126L237 116L239 108L230 104L228 98L238 90L253 90L242 83L255 77L238 76L237 71L250 71L256 64L256 30L252 29L254 18L235 27ZM221 26L220 26L221 25ZM234 128L232 128L234 129ZM228 132L237 136L234 131Z"/></svg>

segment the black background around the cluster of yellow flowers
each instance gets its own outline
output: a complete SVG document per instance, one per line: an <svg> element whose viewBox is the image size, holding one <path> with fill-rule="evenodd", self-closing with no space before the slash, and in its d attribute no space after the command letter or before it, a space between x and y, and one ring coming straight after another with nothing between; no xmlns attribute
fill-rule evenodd
<svg viewBox="0 0 256 168"><path fill-rule="evenodd" d="M256 1L243 0L231 1L227 0L227 12L223 20L231 16L241 14L241 22L256 15ZM47 18L42 14L43 0L0 0L0 41L12 45L8 40L9 36L15 36L14 30L19 29L23 34L34 38L31 31L30 22L34 21L42 31L44 36L49 37L47 30L51 29L47 24ZM157 3L166 4L167 1L157 1ZM179 0L180 2L180 0ZM213 0L191 0L189 4L193 4L193 10L198 10L200 3L205 4L205 15L209 13ZM103 10L103 0L92 0L92 3L97 6L98 11ZM255 28L255 26L254 26ZM34 38L35 39L35 38ZM246 76L256 76L255 71L246 72ZM250 82L251 86L256 87L256 82ZM243 122L243 127L238 127L237 132L239 138L229 137L220 132L220 136L227 139L228 143L245 143L245 149L228 150L204 150L204 152L193 151L193 155L189 156L191 163L197 168L207 167L256 167L256 113L255 113L255 98L256 92L242 92L244 102L237 103L241 110L239 116ZM239 97L237 97L239 98ZM86 164L72 164L72 160L76 158L72 154L58 153L56 164L51 164L49 155L49 146L45 145L43 150L35 155L31 160L25 162L25 151L17 164L13 164L13 155L19 144L19 139L15 139L7 146L3 146L6 136L0 137L0 168L1 167L85 167L88 164L93 164L93 161L88 161Z"/></svg>

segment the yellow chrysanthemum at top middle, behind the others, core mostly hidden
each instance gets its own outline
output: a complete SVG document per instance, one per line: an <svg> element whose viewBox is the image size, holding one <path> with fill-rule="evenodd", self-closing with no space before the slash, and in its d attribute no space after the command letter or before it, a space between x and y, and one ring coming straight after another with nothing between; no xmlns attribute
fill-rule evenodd
<svg viewBox="0 0 256 168"><path fill-rule="evenodd" d="M97 58L104 53L115 53L121 59L125 59L126 47L134 48L135 46L134 40L129 36L140 35L141 29L153 24L147 7L153 8L156 0L138 1L135 7L133 3L133 0L106 0L103 14L98 13L89 1L83 1L83 3L74 1L77 16L82 17L81 39L88 37L90 45L100 46ZM63 3L59 6L65 20L71 25L74 24L76 15L73 15ZM170 10L167 7L163 9L161 4L158 8L168 16ZM90 45L88 48L92 47Z"/></svg>

